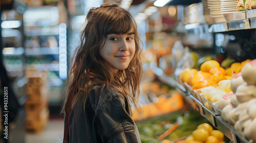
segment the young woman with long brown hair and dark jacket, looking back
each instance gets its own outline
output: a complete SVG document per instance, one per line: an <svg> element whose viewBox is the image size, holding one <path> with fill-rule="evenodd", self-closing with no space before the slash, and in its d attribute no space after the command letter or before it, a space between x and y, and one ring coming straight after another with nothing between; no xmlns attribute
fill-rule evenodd
<svg viewBox="0 0 256 143"><path fill-rule="evenodd" d="M142 75L139 41L128 11L115 4L89 11L71 62L63 142L141 142L131 118Z"/></svg>

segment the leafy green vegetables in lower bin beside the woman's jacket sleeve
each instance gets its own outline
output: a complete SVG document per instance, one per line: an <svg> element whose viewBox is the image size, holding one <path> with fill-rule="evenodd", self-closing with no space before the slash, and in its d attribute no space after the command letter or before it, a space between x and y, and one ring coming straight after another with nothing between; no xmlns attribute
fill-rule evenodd
<svg viewBox="0 0 256 143"><path fill-rule="evenodd" d="M163 114L160 116L147 118L146 120L137 121L136 125L140 132L142 142L147 143L148 140L152 142L152 140L149 138L155 138L155 140L161 141L158 139L158 137L176 122L178 116L183 116L182 111ZM188 116L183 116L183 123L164 139L174 140L176 138L190 135L197 128L197 126L202 123L210 124L206 118L200 115L200 113L190 109Z"/></svg>

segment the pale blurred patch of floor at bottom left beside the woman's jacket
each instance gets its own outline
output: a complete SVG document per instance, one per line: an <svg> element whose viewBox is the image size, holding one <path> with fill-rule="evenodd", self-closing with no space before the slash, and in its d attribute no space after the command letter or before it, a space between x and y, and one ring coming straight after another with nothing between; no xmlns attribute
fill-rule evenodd
<svg viewBox="0 0 256 143"><path fill-rule="evenodd" d="M26 143L61 143L64 130L63 120L49 120L46 128L39 134L27 132Z"/></svg>

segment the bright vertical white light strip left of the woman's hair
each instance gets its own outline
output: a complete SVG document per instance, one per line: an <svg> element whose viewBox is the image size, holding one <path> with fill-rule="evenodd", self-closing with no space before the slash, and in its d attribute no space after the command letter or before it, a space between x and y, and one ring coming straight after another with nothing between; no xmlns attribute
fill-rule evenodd
<svg viewBox="0 0 256 143"><path fill-rule="evenodd" d="M59 78L67 79L67 25L59 25Z"/></svg>

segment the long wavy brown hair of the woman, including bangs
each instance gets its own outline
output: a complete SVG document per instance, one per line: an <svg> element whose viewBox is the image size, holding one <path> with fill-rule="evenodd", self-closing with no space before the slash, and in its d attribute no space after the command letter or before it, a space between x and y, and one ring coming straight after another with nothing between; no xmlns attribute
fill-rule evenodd
<svg viewBox="0 0 256 143"><path fill-rule="evenodd" d="M67 99L74 88L76 95L82 95L82 103L85 105L90 90L97 83L103 83L106 87L114 87L128 99L129 103L132 102L138 108L142 50L139 45L137 25L132 15L116 4L103 4L98 8L90 9L85 24L86 27L81 32L81 43L71 60L62 112L66 112ZM135 35L134 57L126 69L114 73L113 66L100 56L100 50L108 34L123 34L131 31ZM78 99L79 96L74 96L72 107Z"/></svg>

